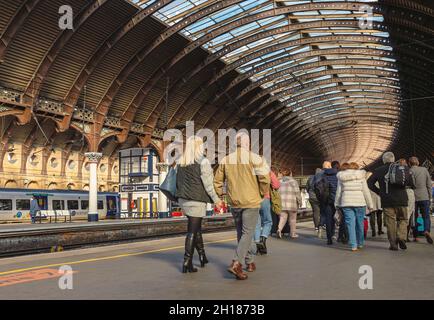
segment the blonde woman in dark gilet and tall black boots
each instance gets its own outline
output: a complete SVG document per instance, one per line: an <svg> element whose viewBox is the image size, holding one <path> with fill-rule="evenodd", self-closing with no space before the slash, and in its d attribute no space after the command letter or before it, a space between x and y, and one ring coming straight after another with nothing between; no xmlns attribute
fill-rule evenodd
<svg viewBox="0 0 434 320"><path fill-rule="evenodd" d="M221 200L214 190L214 174L209 160L204 155L202 138L187 139L185 150L178 160L176 175L176 197L188 217L188 233L185 239L185 254L182 272L197 272L193 267L196 248L201 267L208 263L202 238L202 218L206 216L207 203L221 206Z"/></svg>

